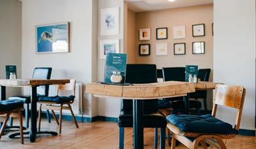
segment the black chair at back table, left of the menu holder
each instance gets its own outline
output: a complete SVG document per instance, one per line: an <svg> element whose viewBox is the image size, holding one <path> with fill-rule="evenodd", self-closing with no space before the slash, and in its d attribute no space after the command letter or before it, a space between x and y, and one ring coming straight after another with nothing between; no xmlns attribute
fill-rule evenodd
<svg viewBox="0 0 256 149"><path fill-rule="evenodd" d="M163 78L165 81L183 81L185 82L185 67L164 67L162 68ZM184 111L184 97L173 97L167 98L169 101L172 101L172 114L177 114L178 112ZM196 114L200 115L201 113L201 103L200 101L191 100L189 101L189 109L195 109Z"/></svg>

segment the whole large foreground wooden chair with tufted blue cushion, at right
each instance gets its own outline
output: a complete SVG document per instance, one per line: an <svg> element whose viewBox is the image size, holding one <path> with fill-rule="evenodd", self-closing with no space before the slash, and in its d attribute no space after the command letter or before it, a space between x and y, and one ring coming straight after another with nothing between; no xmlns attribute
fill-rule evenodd
<svg viewBox="0 0 256 149"><path fill-rule="evenodd" d="M169 115L168 132L172 133L172 148L175 148L176 140L187 146L187 148L198 148L201 144L204 148L206 142L211 146L218 144L221 148L227 148L222 139L231 139L239 131L242 110L246 90L242 86L217 85L213 99L213 110L211 115ZM217 107L234 108L236 110L236 122L234 127L215 118ZM223 113L224 114L224 113Z"/></svg>

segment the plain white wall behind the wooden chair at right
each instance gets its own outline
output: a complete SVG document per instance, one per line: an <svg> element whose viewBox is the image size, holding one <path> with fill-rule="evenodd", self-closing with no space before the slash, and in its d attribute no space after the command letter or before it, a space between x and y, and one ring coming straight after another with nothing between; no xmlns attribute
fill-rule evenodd
<svg viewBox="0 0 256 149"><path fill-rule="evenodd" d="M215 0L213 76L215 82L244 86L247 90L242 129L255 129L255 0ZM217 116L234 122L234 110Z"/></svg>

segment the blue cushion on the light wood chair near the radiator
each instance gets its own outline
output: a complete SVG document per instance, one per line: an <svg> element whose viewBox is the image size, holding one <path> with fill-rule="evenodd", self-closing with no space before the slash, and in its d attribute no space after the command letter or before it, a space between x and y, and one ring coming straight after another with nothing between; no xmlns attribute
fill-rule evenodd
<svg viewBox="0 0 256 149"><path fill-rule="evenodd" d="M52 97L39 97L39 101L48 101L48 102L54 102L54 103L68 103L71 101L74 101L75 96L69 95L69 96L52 96Z"/></svg>

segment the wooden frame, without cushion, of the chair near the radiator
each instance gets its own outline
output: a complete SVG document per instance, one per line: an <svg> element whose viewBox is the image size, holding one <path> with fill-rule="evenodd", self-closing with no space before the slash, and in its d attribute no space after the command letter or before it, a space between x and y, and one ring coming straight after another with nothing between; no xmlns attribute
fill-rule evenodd
<svg viewBox="0 0 256 149"><path fill-rule="evenodd" d="M75 80L71 79L69 84L60 84L58 85L58 95L60 95L60 91L73 91L73 95L75 95ZM52 111L52 116L54 118L54 120L56 121L57 125L60 125L59 128L59 133L62 133L62 110L70 110L71 115L73 117L73 121L75 122L75 126L78 128L79 125L77 124L77 120L75 118L75 115L73 113L73 110L71 108L71 104L74 101L71 102L67 102L67 103L54 103L54 102L50 102L50 101L39 101L40 104L40 108L39 108L39 131L41 129L41 112L42 109L45 110L51 110ZM67 107L65 107L64 105L67 105ZM60 110L60 115L59 115L59 120L57 119L57 116L54 112L54 110Z"/></svg>

